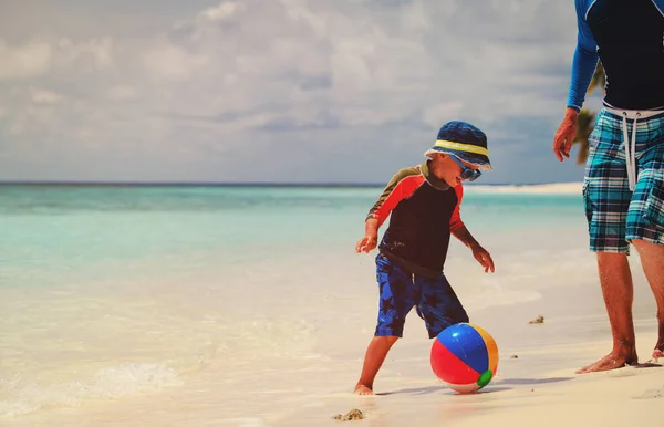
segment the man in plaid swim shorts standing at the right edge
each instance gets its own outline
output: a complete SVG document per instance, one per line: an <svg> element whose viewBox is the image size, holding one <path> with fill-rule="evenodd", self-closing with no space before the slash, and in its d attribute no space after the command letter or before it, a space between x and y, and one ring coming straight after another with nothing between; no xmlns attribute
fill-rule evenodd
<svg viewBox="0 0 664 427"><path fill-rule="evenodd" d="M604 105L589 138L583 200L613 348L578 372L588 373L637 363L630 243L657 304L652 357L664 357L664 0L577 0L575 6L569 100L553 140L560 162L569 158L598 59L606 74Z"/></svg>

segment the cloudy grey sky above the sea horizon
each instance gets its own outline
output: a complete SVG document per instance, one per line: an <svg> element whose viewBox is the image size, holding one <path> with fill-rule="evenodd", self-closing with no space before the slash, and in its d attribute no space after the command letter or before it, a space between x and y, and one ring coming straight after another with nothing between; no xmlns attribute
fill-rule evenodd
<svg viewBox="0 0 664 427"><path fill-rule="evenodd" d="M386 183L466 121L484 184L579 181L575 39L559 0L0 0L0 180Z"/></svg>

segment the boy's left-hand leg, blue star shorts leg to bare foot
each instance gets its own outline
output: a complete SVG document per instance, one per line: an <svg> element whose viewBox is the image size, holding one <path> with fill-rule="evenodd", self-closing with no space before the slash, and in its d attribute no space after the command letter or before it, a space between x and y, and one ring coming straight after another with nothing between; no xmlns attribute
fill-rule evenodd
<svg viewBox="0 0 664 427"><path fill-rule="evenodd" d="M380 288L378 321L373 340L369 343L362 374L355 393L373 393L373 383L392 345L404 332L406 315L415 304L412 274L378 253L376 280Z"/></svg>

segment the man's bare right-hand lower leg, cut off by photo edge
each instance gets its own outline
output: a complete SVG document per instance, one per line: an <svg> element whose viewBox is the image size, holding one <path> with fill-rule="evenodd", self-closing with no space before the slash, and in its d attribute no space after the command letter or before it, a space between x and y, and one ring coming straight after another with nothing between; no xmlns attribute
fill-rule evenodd
<svg viewBox="0 0 664 427"><path fill-rule="evenodd" d="M643 240L633 240L632 243L641 256L643 272L657 303L658 336L653 350L653 358L657 360L664 357L664 246Z"/></svg>

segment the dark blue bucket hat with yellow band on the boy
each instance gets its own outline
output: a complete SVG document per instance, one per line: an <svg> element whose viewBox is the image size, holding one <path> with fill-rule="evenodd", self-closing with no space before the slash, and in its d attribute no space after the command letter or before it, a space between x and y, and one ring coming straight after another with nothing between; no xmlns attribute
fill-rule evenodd
<svg viewBox="0 0 664 427"><path fill-rule="evenodd" d="M425 155L450 154L466 163L491 170L487 136L466 122L448 122L438 131L436 144Z"/></svg>

